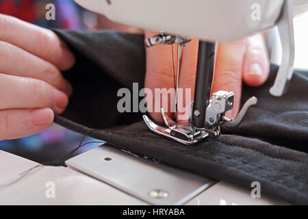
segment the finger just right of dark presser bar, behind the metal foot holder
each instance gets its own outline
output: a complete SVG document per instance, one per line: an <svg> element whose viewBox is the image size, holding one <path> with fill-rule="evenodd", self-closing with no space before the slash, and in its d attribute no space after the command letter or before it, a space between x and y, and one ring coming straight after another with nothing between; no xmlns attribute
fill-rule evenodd
<svg viewBox="0 0 308 219"><path fill-rule="evenodd" d="M235 118L240 109L242 93L242 66L246 49L246 40L220 42L216 44L216 60L212 92L218 90L233 91L233 110L227 116Z"/></svg>

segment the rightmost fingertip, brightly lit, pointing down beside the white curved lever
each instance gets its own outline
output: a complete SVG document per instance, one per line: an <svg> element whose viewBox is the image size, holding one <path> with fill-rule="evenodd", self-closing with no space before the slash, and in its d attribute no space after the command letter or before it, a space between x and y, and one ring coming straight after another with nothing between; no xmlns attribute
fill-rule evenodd
<svg viewBox="0 0 308 219"><path fill-rule="evenodd" d="M264 37L261 34L247 40L244 55L243 80L248 86L260 86L268 78L270 62Z"/></svg>

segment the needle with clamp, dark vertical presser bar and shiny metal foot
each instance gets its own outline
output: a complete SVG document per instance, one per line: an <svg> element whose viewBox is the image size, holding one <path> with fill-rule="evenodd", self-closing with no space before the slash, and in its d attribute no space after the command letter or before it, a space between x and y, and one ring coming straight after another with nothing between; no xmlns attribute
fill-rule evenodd
<svg viewBox="0 0 308 219"><path fill-rule="evenodd" d="M165 35L159 33L153 38L145 40L146 47L152 47L155 44L179 44L178 47L178 69L177 69L177 83L179 81L179 66L181 64L181 49L183 44L189 42L190 39L181 38L177 36ZM242 122L244 115L246 114L249 107L257 104L257 98L251 97L246 101L242 110L236 118L227 118L224 114L232 110L234 93L220 90L212 94L209 99L211 91L211 82L213 78L214 68L214 51L215 44L210 42L199 42L198 48L198 65L196 71L196 86L194 93L194 102L190 106L190 117L188 125L181 126L177 125L172 120L164 109L161 109L162 118L166 127L159 126L146 115L143 116L146 125L160 136L170 138L182 144L195 144L211 136L220 136L220 126L233 128ZM175 105L177 109L177 88Z"/></svg>

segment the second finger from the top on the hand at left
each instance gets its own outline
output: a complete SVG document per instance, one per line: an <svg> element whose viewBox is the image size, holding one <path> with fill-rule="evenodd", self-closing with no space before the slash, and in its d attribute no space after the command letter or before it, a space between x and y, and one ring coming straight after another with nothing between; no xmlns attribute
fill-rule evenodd
<svg viewBox="0 0 308 219"><path fill-rule="evenodd" d="M0 73L40 79L69 96L72 93L70 83L53 64L8 42L0 41Z"/></svg>

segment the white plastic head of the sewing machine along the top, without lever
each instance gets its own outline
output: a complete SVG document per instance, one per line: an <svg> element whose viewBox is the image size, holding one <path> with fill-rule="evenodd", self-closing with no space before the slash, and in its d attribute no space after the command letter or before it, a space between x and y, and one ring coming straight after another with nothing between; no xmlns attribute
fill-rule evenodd
<svg viewBox="0 0 308 219"><path fill-rule="evenodd" d="M205 41L232 40L269 29L283 6L283 0L75 1L117 23ZM307 0L294 1L294 14L307 9Z"/></svg>

